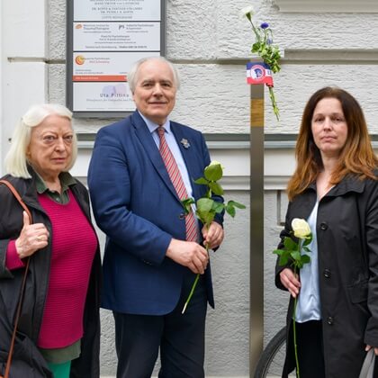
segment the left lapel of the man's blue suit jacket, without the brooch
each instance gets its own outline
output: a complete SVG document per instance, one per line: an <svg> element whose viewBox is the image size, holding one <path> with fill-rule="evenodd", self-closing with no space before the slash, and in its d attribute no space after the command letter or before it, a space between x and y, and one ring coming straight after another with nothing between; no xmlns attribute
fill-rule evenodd
<svg viewBox="0 0 378 378"><path fill-rule="evenodd" d="M143 146L146 155L148 156L149 160L151 161L152 165L155 167L157 174L160 175L161 179L163 180L164 184L166 184L167 188L171 191L171 193L175 196L177 201L180 202L180 199L175 192L175 187L172 184L171 179L169 178L168 172L166 170L166 165L158 151L157 145L155 140L152 138L151 133L148 130L146 122L140 117L139 112L134 112L132 114L132 125L135 128L135 133L141 146Z"/></svg>

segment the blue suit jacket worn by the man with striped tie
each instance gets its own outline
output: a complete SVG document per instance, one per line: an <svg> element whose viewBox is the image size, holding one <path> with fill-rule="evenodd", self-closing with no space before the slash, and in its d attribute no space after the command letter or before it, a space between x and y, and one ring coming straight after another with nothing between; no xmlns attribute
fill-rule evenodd
<svg viewBox="0 0 378 378"><path fill-rule="evenodd" d="M201 177L210 163L202 133L172 121L171 130L190 178ZM183 138L189 148L180 143ZM107 235L103 307L146 315L173 311L187 268L165 255L171 238L185 239L183 206L139 112L99 130L88 185L95 220ZM204 192L193 184L195 200ZM210 267L205 276L213 306Z"/></svg>

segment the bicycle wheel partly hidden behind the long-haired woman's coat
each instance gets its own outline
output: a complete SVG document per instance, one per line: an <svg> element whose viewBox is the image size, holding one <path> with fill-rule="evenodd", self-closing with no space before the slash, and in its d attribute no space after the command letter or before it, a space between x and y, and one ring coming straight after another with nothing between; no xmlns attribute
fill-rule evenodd
<svg viewBox="0 0 378 378"><path fill-rule="evenodd" d="M286 327L275 334L257 362L254 378L281 377L286 353ZM295 377L295 374L290 377Z"/></svg>

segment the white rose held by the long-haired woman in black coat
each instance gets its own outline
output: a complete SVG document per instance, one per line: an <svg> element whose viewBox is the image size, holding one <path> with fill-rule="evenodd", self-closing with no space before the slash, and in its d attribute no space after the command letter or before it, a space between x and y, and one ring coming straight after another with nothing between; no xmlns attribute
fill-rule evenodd
<svg viewBox="0 0 378 378"><path fill-rule="evenodd" d="M306 254L306 252L311 252L310 248L307 247L312 240L311 229L309 223L306 220L299 218L294 218L292 221L293 235L298 239L298 242L294 241L293 238L284 238L284 249L275 249L273 253L279 256L278 264L279 266L287 266L290 264L293 267L294 275L297 275L299 270L305 264L311 262L311 257ZM302 253L302 251L304 253ZM297 310L297 299L298 296L294 298L294 309L293 309L293 338L294 338L294 353L295 353L295 364L296 364L296 374L300 378L300 366L298 362L298 352L297 352L297 335L295 329L295 313Z"/></svg>

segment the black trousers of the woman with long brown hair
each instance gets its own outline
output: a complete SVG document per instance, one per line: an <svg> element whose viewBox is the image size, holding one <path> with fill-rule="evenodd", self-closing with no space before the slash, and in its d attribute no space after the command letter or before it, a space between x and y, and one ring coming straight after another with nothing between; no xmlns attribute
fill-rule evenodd
<svg viewBox="0 0 378 378"><path fill-rule="evenodd" d="M325 378L321 320L295 323L301 378Z"/></svg>

